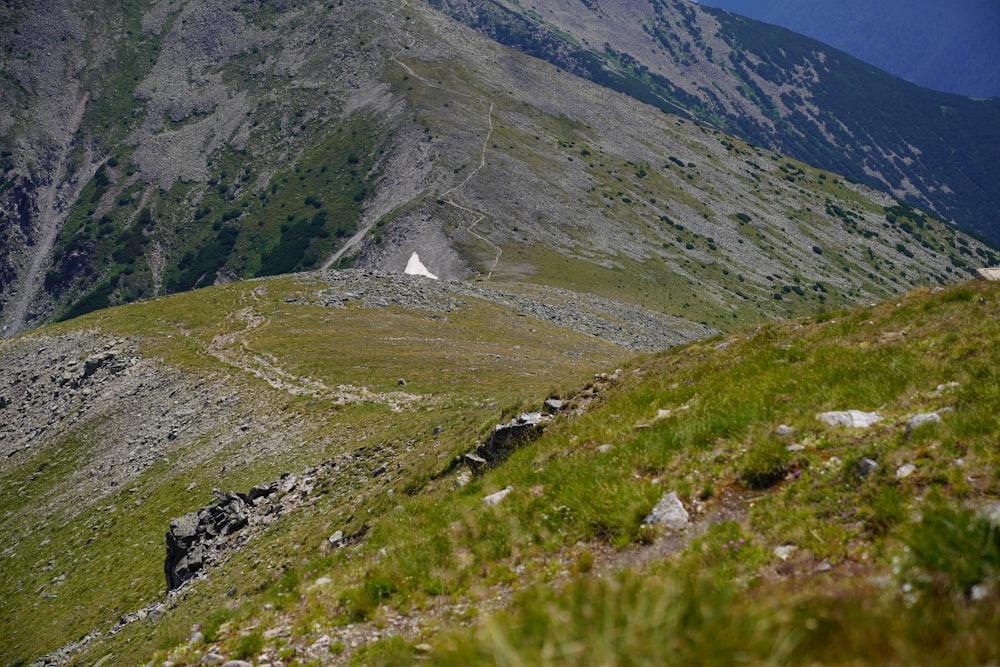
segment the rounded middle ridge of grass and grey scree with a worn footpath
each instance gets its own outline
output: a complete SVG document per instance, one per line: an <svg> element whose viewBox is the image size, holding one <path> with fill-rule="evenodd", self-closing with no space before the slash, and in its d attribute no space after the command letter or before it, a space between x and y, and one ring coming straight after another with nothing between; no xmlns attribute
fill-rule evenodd
<svg viewBox="0 0 1000 667"><path fill-rule="evenodd" d="M363 533L388 489L419 493L505 410L630 354L498 303L515 288L480 293L492 300L406 276L271 279L4 341L0 662L30 662L161 600L170 519L211 503L213 489L340 461L319 526ZM287 523L265 552L303 529ZM277 556L267 565L282 567Z"/></svg>

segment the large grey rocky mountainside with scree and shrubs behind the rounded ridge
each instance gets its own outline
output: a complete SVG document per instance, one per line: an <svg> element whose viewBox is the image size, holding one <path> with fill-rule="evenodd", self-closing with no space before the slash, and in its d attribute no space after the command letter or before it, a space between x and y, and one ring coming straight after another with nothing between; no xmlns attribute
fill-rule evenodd
<svg viewBox="0 0 1000 667"><path fill-rule="evenodd" d="M24 6L0 31L8 333L253 276L402 271L413 252L443 278L716 328L995 258L892 197L427 5L89 7Z"/></svg>

